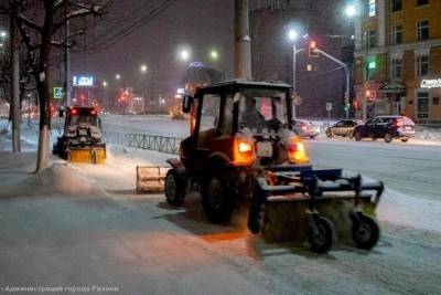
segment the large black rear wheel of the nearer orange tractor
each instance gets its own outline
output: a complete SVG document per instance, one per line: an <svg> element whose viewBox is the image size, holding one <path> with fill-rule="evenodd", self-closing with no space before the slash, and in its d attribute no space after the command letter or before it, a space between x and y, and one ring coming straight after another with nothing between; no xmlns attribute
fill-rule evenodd
<svg viewBox="0 0 441 295"><path fill-rule="evenodd" d="M202 186L202 206L208 220L216 224L228 224L235 210L235 193L229 188L227 172L212 172Z"/></svg>

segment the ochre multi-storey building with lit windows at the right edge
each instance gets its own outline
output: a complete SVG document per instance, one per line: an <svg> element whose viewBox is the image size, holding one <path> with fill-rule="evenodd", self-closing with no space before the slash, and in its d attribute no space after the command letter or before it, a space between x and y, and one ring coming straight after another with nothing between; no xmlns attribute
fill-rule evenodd
<svg viewBox="0 0 441 295"><path fill-rule="evenodd" d="M441 1L364 0L355 25L357 115L441 123Z"/></svg>

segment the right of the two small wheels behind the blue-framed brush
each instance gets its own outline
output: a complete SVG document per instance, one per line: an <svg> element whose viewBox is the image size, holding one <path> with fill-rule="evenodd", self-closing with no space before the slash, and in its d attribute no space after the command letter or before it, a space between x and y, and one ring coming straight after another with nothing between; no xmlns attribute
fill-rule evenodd
<svg viewBox="0 0 441 295"><path fill-rule="evenodd" d="M353 221L352 238L359 249L370 250L379 239L379 226L375 219L358 214L356 221Z"/></svg>

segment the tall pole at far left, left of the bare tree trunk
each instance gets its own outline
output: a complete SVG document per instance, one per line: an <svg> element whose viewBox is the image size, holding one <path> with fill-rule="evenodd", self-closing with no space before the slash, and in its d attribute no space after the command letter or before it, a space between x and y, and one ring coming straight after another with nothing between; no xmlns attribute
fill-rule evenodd
<svg viewBox="0 0 441 295"><path fill-rule="evenodd" d="M14 13L15 11L12 11ZM12 151L21 151L20 143L20 38L19 28L17 28L15 21L11 14L11 64L12 64L12 96L11 96L11 108L12 108Z"/></svg>

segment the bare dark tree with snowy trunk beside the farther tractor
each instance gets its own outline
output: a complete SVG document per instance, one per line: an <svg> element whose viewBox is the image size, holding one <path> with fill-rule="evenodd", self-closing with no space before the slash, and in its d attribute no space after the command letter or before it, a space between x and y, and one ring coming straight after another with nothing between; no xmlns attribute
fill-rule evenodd
<svg viewBox="0 0 441 295"><path fill-rule="evenodd" d="M13 18L26 48L30 69L35 81L40 102L40 134L36 160L36 172L45 169L50 161L50 83L51 54L54 46L71 45L69 39L78 34L67 35L64 40L55 40L58 31L67 21L88 15L101 15L108 0L9 0L0 6Z"/></svg>

